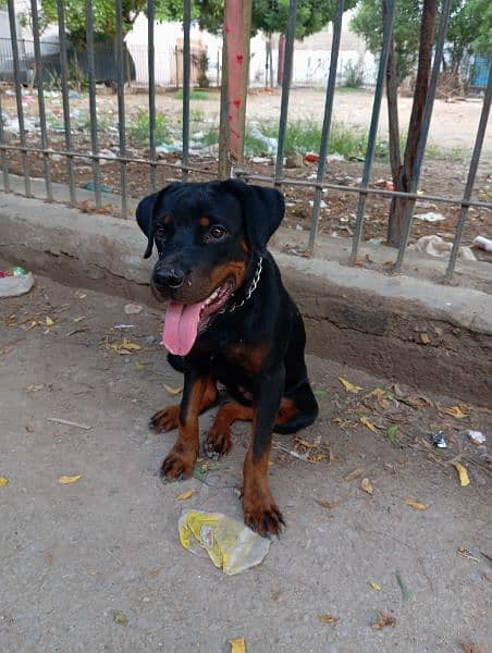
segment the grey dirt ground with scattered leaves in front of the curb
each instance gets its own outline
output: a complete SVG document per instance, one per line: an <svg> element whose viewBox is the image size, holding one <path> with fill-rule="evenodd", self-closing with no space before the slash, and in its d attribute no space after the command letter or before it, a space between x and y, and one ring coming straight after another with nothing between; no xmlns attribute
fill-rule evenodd
<svg viewBox="0 0 492 653"><path fill-rule="evenodd" d="M300 441L275 436L270 468L287 528L259 567L226 577L181 547L177 519L190 507L241 518L248 427L227 458L163 485L174 434L147 424L181 377L158 344L161 310L124 305L47 279L0 300L2 652L225 653L239 637L250 653L492 651L489 411L308 357L320 417ZM119 354L123 337L140 348ZM447 449L430 444L439 430ZM381 613L394 624L376 630Z"/></svg>

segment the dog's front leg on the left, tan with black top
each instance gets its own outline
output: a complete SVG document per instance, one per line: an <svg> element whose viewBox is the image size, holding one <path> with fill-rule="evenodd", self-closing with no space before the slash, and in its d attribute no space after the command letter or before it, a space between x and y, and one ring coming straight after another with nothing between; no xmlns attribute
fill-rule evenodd
<svg viewBox="0 0 492 653"><path fill-rule="evenodd" d="M164 458L161 477L168 480L187 479L193 473L199 451L198 415L209 374L196 369L185 370L183 398L180 406L177 440Z"/></svg>

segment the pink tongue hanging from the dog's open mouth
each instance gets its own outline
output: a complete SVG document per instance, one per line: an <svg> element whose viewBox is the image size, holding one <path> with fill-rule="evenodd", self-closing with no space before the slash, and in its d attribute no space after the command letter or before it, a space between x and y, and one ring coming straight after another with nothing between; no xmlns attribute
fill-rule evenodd
<svg viewBox="0 0 492 653"><path fill-rule="evenodd" d="M190 352L198 334L202 306L204 301L198 301L198 304L169 303L162 330L162 344L168 352L180 356L186 356Z"/></svg>

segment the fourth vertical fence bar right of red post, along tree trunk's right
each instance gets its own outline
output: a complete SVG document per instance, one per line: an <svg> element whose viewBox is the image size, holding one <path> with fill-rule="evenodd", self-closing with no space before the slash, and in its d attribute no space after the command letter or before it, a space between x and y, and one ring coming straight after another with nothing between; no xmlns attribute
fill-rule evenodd
<svg viewBox="0 0 492 653"><path fill-rule="evenodd" d="M417 157L415 160L414 173L410 182L410 193L417 193L418 183L420 178L420 169L422 165L423 153L426 151L427 137L429 135L429 126L432 118L432 109L434 107L435 88L438 86L439 71L441 70L441 62L443 58L444 41L447 33L447 22L450 20L451 0L443 0L441 21L439 24L439 35L434 50L434 62L432 64L432 73L427 91L426 106L423 108L422 128L420 132L420 138L417 146ZM394 267L395 272L401 272L403 260L405 258L405 250L408 245L408 238L410 236L411 224L414 222L414 207L415 200L411 201L410 206L405 211L405 223L403 225L402 239L398 247L398 255Z"/></svg>

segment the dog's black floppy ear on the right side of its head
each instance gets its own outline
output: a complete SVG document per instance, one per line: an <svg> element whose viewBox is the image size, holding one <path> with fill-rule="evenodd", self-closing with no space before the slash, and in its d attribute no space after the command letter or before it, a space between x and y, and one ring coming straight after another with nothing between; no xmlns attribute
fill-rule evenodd
<svg viewBox="0 0 492 653"><path fill-rule="evenodd" d="M246 233L251 248L263 251L284 217L285 202L282 193L274 188L248 185L241 180L226 180L221 185L237 197L243 206Z"/></svg>

